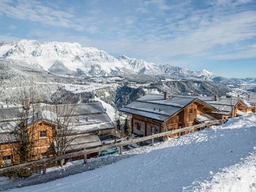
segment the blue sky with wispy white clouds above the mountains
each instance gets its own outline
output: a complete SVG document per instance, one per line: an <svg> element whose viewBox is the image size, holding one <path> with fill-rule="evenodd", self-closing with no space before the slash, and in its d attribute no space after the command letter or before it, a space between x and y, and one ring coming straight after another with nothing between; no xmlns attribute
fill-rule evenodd
<svg viewBox="0 0 256 192"><path fill-rule="evenodd" d="M0 0L0 41L18 39L256 77L255 0Z"/></svg>

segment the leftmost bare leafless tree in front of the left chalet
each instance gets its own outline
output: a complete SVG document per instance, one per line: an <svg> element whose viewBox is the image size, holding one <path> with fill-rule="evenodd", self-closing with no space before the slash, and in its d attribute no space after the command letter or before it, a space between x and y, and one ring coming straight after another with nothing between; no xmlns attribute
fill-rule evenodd
<svg viewBox="0 0 256 192"><path fill-rule="evenodd" d="M37 120L39 106L37 93L32 86L20 87L15 96L13 100L18 107L7 108L6 116L1 118L7 120L4 126L7 127L12 162L19 164L32 160L35 144L34 122Z"/></svg>

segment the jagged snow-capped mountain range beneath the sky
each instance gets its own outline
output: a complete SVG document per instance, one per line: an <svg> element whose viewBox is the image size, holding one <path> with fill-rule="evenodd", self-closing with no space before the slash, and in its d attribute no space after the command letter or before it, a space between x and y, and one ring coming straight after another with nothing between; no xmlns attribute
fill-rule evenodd
<svg viewBox="0 0 256 192"><path fill-rule="evenodd" d="M37 42L22 39L0 44L0 59L22 61L26 66L53 72L80 76L108 76L116 74L167 74L175 78L209 80L214 74L206 70L192 72L177 66L157 65L121 55L115 58L104 50L83 47L78 43Z"/></svg>

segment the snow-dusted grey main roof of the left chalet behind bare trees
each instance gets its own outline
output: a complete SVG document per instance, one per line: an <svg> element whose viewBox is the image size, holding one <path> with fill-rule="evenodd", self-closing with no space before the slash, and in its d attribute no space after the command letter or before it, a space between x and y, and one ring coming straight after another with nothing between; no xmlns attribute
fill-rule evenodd
<svg viewBox="0 0 256 192"><path fill-rule="evenodd" d="M74 111L72 112L73 123L71 123L72 125L70 124L73 132L84 133L114 128L113 123L100 102L72 104L71 106L74 107ZM46 107L39 107L38 112L35 112L34 115L29 117L28 124L37 122L38 120L54 123L56 113L54 113L53 107L53 105L49 104ZM58 107L64 107L64 105L60 104ZM23 110L20 107L0 109L0 132L7 132L18 126L18 112L23 112ZM0 142L1 140L4 139L0 138Z"/></svg>

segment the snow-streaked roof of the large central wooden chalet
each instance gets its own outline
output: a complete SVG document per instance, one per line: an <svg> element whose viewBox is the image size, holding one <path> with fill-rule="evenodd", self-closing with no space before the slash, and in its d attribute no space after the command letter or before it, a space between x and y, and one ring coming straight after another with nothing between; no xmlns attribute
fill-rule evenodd
<svg viewBox="0 0 256 192"><path fill-rule="evenodd" d="M171 96L169 99L164 99L164 95L162 94L147 94L137 101L121 108L121 111L163 121L176 115L176 113L183 110L184 107L193 101L200 101L200 99L186 96Z"/></svg>

